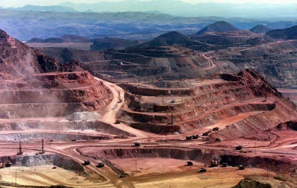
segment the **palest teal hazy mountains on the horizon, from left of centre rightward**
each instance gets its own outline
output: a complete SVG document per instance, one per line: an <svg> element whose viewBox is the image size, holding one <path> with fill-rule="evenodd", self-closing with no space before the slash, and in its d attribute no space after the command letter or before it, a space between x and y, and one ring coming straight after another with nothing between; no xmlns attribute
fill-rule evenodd
<svg viewBox="0 0 297 188"><path fill-rule="evenodd" d="M64 2L58 4L63 7L72 7L75 10L84 12L88 9L94 12L147 12L159 11L174 16L219 16L219 17L297 17L297 4L227 4L227 3L198 3L189 4L175 0L125 0L119 2L101 1L97 3ZM284 12L286 12L284 14Z"/></svg>

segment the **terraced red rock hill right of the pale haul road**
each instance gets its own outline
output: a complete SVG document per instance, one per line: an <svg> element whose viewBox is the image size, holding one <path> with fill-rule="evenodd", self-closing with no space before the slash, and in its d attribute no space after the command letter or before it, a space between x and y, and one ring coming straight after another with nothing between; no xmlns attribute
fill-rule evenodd
<svg viewBox="0 0 297 188"><path fill-rule="evenodd" d="M186 133L213 125L226 117L252 114L209 135L207 139L212 141L215 138L227 140L265 131L297 115L296 106L253 69L195 81L192 81L195 87L184 89L120 84L131 94L125 95L128 109L121 109L118 118L133 128L153 133ZM203 82L205 84L200 85ZM135 95L146 95L149 99L139 99ZM150 96L158 95L176 99L187 95L188 98L178 103L150 102L154 99ZM265 95L270 98L269 101L264 101ZM171 122L171 118L175 124L166 125Z"/></svg>

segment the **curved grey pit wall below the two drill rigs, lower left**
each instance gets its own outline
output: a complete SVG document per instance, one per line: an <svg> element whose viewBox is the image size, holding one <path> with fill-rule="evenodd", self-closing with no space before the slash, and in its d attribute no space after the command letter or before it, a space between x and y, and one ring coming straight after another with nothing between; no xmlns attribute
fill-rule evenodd
<svg viewBox="0 0 297 188"><path fill-rule="evenodd" d="M78 171L85 174L83 166L73 159L60 156L57 154L43 154L31 156L8 156L0 157L0 162L4 163L10 161L13 166L42 166L42 165L55 165L65 170Z"/></svg>

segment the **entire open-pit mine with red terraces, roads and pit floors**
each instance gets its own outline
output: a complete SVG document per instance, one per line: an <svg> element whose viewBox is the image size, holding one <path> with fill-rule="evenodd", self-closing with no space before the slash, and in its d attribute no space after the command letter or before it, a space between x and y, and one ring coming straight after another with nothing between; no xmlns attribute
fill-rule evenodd
<svg viewBox="0 0 297 188"><path fill-rule="evenodd" d="M0 34L0 187L297 187L296 41L49 57Z"/></svg>

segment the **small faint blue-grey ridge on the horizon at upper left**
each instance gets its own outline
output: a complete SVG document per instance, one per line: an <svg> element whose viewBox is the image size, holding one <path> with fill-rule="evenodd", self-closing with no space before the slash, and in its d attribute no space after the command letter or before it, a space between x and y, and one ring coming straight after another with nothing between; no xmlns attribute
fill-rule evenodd
<svg viewBox="0 0 297 188"><path fill-rule="evenodd" d="M33 6L33 5L26 5L24 7L19 8L7 8L9 10L26 10L26 11L51 11L51 12L79 12L72 7L62 7L62 6Z"/></svg>

